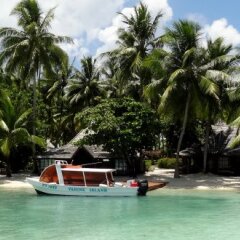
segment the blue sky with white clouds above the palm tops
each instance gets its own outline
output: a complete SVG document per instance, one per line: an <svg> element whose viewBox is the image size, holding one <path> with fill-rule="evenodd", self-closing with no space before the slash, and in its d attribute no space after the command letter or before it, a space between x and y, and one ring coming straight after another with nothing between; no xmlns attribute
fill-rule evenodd
<svg viewBox="0 0 240 240"><path fill-rule="evenodd" d="M0 27L17 27L11 10L19 0L0 0ZM56 35L70 36L74 44L62 47L78 61L83 56L98 56L113 49L117 29L123 26L121 15L130 15L138 0L39 0L43 12L55 7L52 29ZM197 21L203 39L224 37L227 44L240 45L239 0L142 0L152 16L159 11L158 34L178 19Z"/></svg>

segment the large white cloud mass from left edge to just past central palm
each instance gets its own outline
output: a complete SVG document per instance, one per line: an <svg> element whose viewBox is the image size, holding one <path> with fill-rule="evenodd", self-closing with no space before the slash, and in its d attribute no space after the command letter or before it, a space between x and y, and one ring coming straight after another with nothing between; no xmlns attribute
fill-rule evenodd
<svg viewBox="0 0 240 240"><path fill-rule="evenodd" d="M16 27L16 17L9 16L19 0L0 0L0 27ZM123 8L127 0L39 0L40 7L46 13L56 7L52 32L74 38L75 44L62 45L70 56L82 56L91 50L91 44L97 46L97 54L108 51L115 46L117 29L123 26L121 11L125 15L133 13L133 8ZM161 11L164 16L160 24L171 19L172 9L168 0L143 0L151 14ZM97 43L98 42L98 43ZM100 42L100 43L99 43ZM78 52L80 51L80 52Z"/></svg>

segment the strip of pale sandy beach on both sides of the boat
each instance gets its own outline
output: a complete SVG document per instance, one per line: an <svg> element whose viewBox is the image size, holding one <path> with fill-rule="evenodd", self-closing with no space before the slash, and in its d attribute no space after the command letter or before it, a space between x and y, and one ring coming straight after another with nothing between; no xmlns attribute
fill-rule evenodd
<svg viewBox="0 0 240 240"><path fill-rule="evenodd" d="M153 182L167 182L167 189L195 189L195 190L240 190L240 177L218 176L214 174L188 174L180 178L173 177L173 169L155 169L147 172L139 178L145 178ZM30 174L13 174L11 178L0 175L1 188L31 188L26 182Z"/></svg>

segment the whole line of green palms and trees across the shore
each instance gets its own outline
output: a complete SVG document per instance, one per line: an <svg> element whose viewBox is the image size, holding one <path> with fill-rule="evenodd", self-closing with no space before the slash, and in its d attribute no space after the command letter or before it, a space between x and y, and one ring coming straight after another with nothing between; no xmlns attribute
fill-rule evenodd
<svg viewBox="0 0 240 240"><path fill-rule="evenodd" d="M211 125L240 126L238 50L204 39L196 22L175 21L158 36L163 14L140 3L130 16L120 13L116 48L83 57L78 69L59 45L72 39L49 30L54 9L44 14L36 0L22 0L11 14L18 28L0 29L0 159L8 176L16 152L34 156L44 140L62 145L89 128L95 134L86 141L124 149L129 164L136 151L164 145L176 152L179 177L181 149L203 146L206 171Z"/></svg>

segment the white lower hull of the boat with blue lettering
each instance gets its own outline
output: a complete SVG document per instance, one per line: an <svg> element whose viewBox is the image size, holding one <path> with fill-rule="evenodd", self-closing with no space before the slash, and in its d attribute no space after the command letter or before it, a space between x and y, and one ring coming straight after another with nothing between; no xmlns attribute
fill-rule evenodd
<svg viewBox="0 0 240 240"><path fill-rule="evenodd" d="M37 178L27 178L39 194L63 196L137 196L138 187L108 187L108 186L72 186L56 183L43 183Z"/></svg>

